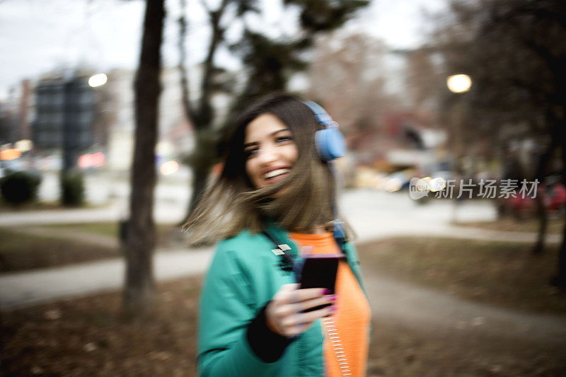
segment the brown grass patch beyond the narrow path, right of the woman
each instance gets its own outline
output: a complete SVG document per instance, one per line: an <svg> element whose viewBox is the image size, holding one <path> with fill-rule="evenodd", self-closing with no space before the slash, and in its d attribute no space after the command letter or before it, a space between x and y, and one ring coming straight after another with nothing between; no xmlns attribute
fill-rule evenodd
<svg viewBox="0 0 566 377"><path fill-rule="evenodd" d="M497 306L566 314L565 294L549 284L558 268L557 245L533 256L530 243L408 237L359 245L358 250L365 273Z"/></svg>

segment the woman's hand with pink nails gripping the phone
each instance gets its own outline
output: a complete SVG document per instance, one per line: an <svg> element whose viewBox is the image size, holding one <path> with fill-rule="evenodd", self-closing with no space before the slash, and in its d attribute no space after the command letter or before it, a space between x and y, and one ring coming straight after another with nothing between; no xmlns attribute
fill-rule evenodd
<svg viewBox="0 0 566 377"><path fill-rule="evenodd" d="M335 311L335 296L328 289L299 289L300 284L284 284L265 308L267 327L284 337L299 335L311 327L318 318L328 317ZM303 313L310 308L330 304L316 311Z"/></svg>

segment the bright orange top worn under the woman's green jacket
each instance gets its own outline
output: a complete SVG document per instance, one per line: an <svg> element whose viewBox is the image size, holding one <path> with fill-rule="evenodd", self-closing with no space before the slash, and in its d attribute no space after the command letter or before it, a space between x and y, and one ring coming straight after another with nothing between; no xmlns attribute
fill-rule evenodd
<svg viewBox="0 0 566 377"><path fill-rule="evenodd" d="M313 254L341 253L332 233L291 233L291 238L303 247L313 246ZM335 293L337 311L330 319L336 330L332 330L324 318L321 320L325 332L325 376L342 376L341 366L350 369L350 376L366 376L371 310L364 291L345 260L340 260L338 265ZM336 347L335 340L339 341L341 347Z"/></svg>

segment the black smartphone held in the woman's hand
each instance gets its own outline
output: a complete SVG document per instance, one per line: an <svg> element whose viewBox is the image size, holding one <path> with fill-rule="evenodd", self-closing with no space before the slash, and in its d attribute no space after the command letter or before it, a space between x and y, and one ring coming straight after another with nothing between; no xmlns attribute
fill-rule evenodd
<svg viewBox="0 0 566 377"><path fill-rule="evenodd" d="M328 289L328 294L335 294L338 262L343 257L342 254L316 254L304 257L301 266L295 272L300 284L299 289L325 288ZM316 311L326 306L330 306L330 303L309 308L303 313Z"/></svg>

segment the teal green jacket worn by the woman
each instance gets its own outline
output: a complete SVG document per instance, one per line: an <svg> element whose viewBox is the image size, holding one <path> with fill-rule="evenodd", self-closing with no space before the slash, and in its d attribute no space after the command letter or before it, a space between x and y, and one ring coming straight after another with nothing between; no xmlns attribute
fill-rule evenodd
<svg viewBox="0 0 566 377"><path fill-rule="evenodd" d="M284 229L267 227L276 240L287 243L294 257L297 246ZM320 320L287 346L272 363L262 361L250 348L248 323L283 284L294 275L279 268L275 245L262 233L242 231L219 243L200 300L198 367L200 376L323 376L323 335ZM359 260L350 243L345 247L350 267L366 292ZM366 294L367 297L367 294Z"/></svg>

